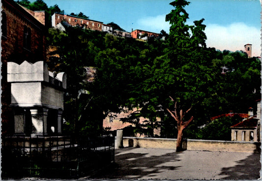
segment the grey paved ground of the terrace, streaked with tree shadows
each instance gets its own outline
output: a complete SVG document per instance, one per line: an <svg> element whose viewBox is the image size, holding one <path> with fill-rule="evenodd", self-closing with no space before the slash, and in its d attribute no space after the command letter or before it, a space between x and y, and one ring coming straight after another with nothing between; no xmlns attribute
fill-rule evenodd
<svg viewBox="0 0 262 181"><path fill-rule="evenodd" d="M260 154L175 149L116 149L115 162L89 179L257 180L261 169Z"/></svg>

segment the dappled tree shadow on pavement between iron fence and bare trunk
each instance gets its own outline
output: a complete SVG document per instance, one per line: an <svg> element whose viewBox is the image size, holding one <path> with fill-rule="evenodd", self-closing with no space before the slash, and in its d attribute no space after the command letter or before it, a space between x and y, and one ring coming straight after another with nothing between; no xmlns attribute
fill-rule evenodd
<svg viewBox="0 0 262 181"><path fill-rule="evenodd" d="M164 170L176 170L180 166L161 166L160 164L169 161L179 161L179 152L167 153L159 156L148 157L147 153L126 153L117 155L116 167L97 173L90 179L139 179L144 176L153 177L156 173Z"/></svg>

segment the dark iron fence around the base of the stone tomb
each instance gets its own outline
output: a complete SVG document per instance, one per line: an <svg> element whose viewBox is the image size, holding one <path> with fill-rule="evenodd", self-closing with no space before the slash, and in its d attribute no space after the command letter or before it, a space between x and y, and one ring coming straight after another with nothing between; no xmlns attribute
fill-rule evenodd
<svg viewBox="0 0 262 181"><path fill-rule="evenodd" d="M5 136L1 178L77 179L115 160L115 137Z"/></svg>

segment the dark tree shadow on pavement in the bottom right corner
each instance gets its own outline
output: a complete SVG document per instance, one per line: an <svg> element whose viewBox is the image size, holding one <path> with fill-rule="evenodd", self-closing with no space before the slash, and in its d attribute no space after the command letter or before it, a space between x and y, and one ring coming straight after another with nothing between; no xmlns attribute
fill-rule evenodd
<svg viewBox="0 0 262 181"><path fill-rule="evenodd" d="M257 180L260 178L261 150L257 150L245 159L236 161L233 167L224 167L219 175L227 175L223 180Z"/></svg>

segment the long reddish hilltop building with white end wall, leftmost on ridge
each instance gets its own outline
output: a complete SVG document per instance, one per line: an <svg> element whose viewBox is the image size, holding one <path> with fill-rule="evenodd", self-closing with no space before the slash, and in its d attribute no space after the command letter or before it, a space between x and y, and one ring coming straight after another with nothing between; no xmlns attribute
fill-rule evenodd
<svg viewBox="0 0 262 181"><path fill-rule="evenodd" d="M56 27L57 24L63 21L71 26L81 26L86 29L97 30L97 31L102 31L102 26L103 26L103 22L80 18L77 16L65 15L61 13L54 13L52 15L53 27Z"/></svg>

